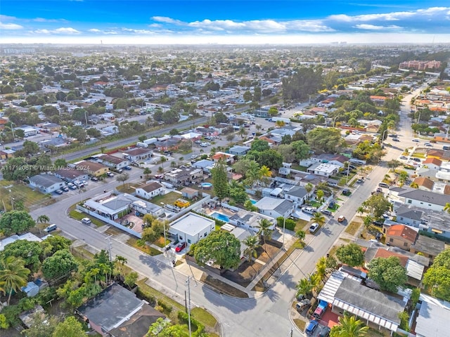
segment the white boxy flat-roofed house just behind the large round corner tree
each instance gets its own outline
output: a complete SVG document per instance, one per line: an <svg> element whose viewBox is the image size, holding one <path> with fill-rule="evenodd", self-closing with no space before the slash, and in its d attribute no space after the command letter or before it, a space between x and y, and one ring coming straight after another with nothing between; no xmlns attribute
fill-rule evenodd
<svg viewBox="0 0 450 337"><path fill-rule="evenodd" d="M178 241L186 242L188 246L191 246L207 237L215 227L214 220L195 213L187 213L170 224L169 233Z"/></svg>

